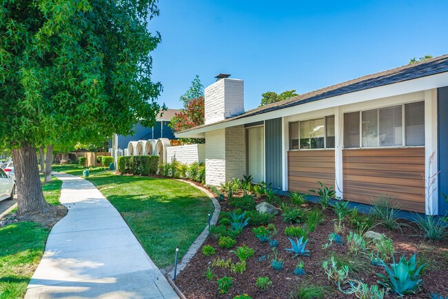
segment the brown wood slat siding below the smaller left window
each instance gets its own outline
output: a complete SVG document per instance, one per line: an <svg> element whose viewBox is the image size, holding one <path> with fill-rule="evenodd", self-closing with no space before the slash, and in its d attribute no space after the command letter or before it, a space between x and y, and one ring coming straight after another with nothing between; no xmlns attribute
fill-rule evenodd
<svg viewBox="0 0 448 299"><path fill-rule="evenodd" d="M288 190L308 193L317 181L334 186L334 150L289 151Z"/></svg>

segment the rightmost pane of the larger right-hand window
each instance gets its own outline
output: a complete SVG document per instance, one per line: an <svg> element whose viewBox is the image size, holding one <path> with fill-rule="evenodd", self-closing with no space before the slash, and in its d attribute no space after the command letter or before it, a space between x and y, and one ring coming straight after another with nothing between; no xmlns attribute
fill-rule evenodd
<svg viewBox="0 0 448 299"><path fill-rule="evenodd" d="M425 102L405 105L406 145L425 145Z"/></svg>

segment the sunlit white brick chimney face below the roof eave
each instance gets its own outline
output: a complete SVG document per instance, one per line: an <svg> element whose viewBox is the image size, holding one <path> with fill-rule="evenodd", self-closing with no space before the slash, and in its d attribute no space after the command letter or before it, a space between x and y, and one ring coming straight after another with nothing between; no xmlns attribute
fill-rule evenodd
<svg viewBox="0 0 448 299"><path fill-rule="evenodd" d="M205 133L205 184L225 182L225 129Z"/></svg>

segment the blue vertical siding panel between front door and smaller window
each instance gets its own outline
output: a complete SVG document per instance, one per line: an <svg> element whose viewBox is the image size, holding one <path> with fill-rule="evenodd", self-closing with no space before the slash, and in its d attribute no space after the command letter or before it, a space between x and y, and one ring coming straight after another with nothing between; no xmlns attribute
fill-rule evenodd
<svg viewBox="0 0 448 299"><path fill-rule="evenodd" d="M266 183L273 189L282 189L282 120L281 118L265 121L265 167Z"/></svg>

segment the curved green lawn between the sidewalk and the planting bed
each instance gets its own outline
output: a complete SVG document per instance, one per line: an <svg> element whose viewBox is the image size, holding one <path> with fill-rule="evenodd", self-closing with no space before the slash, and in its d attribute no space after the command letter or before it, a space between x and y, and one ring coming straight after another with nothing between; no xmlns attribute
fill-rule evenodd
<svg viewBox="0 0 448 299"><path fill-rule="evenodd" d="M174 264L207 224L214 211L202 191L176 180L102 173L88 177L112 202L157 267Z"/></svg>

